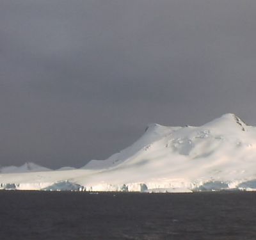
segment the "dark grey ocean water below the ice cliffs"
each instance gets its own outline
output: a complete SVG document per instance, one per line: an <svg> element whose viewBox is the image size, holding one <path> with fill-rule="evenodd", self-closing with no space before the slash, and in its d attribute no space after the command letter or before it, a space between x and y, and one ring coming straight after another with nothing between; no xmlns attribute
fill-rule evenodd
<svg viewBox="0 0 256 240"><path fill-rule="evenodd" d="M0 191L0 239L256 239L256 193Z"/></svg>

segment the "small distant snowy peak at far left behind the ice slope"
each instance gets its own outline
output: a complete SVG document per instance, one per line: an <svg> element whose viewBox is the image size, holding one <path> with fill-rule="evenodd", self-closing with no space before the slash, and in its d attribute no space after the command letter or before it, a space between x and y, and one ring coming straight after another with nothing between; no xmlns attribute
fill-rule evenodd
<svg viewBox="0 0 256 240"><path fill-rule="evenodd" d="M45 172L45 171L52 171L52 170L35 163L25 163L22 166L3 166L0 168L0 173L26 173L26 172Z"/></svg>

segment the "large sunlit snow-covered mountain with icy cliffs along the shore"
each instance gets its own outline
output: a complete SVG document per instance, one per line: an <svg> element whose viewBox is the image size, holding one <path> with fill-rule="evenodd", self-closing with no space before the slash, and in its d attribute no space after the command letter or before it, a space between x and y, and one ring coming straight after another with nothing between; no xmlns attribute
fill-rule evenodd
<svg viewBox="0 0 256 240"><path fill-rule="evenodd" d="M16 189L252 190L256 127L234 114L200 127L150 124L138 141L104 161L90 161L79 170L1 174L0 182L2 188Z"/></svg>

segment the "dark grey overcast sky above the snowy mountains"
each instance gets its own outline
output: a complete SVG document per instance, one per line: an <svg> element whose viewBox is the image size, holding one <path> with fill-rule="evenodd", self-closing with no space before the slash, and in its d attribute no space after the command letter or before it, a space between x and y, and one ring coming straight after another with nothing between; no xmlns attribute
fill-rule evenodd
<svg viewBox="0 0 256 240"><path fill-rule="evenodd" d="M255 13L255 0L1 0L0 165L83 166L152 122L256 125Z"/></svg>

